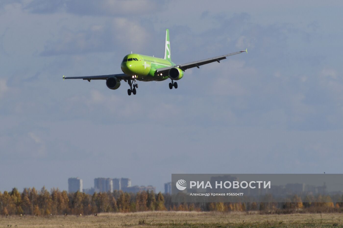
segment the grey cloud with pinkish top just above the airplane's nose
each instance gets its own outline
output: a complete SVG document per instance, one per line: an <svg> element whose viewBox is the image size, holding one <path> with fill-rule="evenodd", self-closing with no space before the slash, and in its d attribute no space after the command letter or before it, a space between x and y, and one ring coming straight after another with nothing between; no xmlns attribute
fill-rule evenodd
<svg viewBox="0 0 343 228"><path fill-rule="evenodd" d="M59 39L45 44L43 56L144 50L150 38L146 28L132 18L116 17L76 30L61 28ZM152 44L151 44L152 45Z"/></svg>

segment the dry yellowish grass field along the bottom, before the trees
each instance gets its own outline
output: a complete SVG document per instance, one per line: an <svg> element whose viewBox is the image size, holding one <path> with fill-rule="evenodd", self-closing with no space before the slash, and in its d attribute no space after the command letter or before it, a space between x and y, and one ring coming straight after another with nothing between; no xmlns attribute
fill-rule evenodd
<svg viewBox="0 0 343 228"><path fill-rule="evenodd" d="M0 227L343 227L343 214L136 212L98 216L2 216Z"/></svg>

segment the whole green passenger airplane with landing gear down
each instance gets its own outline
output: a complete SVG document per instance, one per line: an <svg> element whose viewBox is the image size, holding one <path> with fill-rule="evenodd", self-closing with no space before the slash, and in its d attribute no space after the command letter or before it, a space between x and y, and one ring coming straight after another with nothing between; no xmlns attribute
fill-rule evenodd
<svg viewBox="0 0 343 228"><path fill-rule="evenodd" d="M198 67L204 64L212 62L220 62L220 60L226 59L227 56L239 54L242 52L247 52L248 49L244 51L238 51L226 55L220 55L209 59L204 59L200 61L184 63L176 65L171 62L170 59L170 41L169 41L169 29L166 30L166 42L164 49L164 58L156 58L154 56L147 56L141 54L128 54L124 57L121 62L121 70L123 74L110 74L110 75L97 75L97 76L86 76L86 77L64 77L64 79L83 79L83 80L106 80L106 85L109 89L118 89L120 86L120 81L124 80L130 86L128 89L129 96L131 93L136 94L138 88L137 80L139 81L163 81L168 78L171 79L169 83L169 89L177 89L177 82L174 80L179 80L184 76L184 71L192 67ZM132 88L133 87L133 88Z"/></svg>

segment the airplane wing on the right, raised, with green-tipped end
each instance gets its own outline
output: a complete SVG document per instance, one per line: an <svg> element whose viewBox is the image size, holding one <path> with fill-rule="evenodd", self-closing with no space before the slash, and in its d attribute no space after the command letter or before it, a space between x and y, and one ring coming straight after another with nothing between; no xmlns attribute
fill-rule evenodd
<svg viewBox="0 0 343 228"><path fill-rule="evenodd" d="M185 71L186 69L192 68L192 67L198 67L204 64L208 64L208 63L212 63L212 62L220 62L220 60L226 59L227 56L230 55L235 55L235 54L240 54L242 52L247 52L248 53L248 49L244 50L244 51L237 51L234 53L230 53L230 54L226 54L226 55L220 55L220 56L216 56L213 58L209 58L209 59L204 59L204 60L199 60L199 61L195 61L195 62L190 62L190 63L184 63L184 64L180 64L180 65L175 65L175 66L168 66L168 67L163 67L163 68L158 68L156 73L162 73L165 74L169 71L169 69L173 68L173 67L178 67L180 69L182 69L182 71Z"/></svg>

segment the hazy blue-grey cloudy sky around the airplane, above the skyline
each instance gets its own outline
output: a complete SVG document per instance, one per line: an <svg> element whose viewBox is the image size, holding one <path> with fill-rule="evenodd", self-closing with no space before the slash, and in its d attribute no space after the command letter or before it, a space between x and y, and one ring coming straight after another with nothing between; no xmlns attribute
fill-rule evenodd
<svg viewBox="0 0 343 228"><path fill-rule="evenodd" d="M0 191L172 173L342 173L341 1L0 3ZM110 90L128 53L186 63L169 81Z"/></svg>

